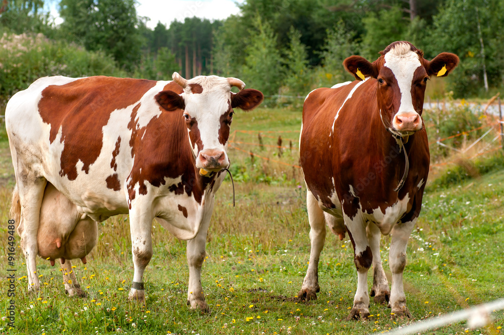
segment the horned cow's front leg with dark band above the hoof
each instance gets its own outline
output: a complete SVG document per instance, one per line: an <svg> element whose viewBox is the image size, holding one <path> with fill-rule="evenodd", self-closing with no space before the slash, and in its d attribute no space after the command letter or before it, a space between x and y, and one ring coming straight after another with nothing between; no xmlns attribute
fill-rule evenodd
<svg viewBox="0 0 504 335"><path fill-rule="evenodd" d="M150 209L150 208L149 208ZM133 254L133 283L129 299L145 303L144 271L152 258L152 213L140 211L132 205L130 210L131 251Z"/></svg>

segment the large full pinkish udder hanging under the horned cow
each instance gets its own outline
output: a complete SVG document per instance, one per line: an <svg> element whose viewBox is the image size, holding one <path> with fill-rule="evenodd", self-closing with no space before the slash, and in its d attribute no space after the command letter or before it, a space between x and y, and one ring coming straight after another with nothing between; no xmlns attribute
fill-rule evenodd
<svg viewBox="0 0 504 335"><path fill-rule="evenodd" d="M85 257L96 245L98 225L47 183L40 208L38 254L46 259Z"/></svg>

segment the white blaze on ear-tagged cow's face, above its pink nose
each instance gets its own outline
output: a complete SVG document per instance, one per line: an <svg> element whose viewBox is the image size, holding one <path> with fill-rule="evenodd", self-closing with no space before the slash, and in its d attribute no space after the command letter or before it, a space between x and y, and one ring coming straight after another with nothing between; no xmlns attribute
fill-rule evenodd
<svg viewBox="0 0 504 335"><path fill-rule="evenodd" d="M397 114L416 112L411 98L411 84L415 70L421 66L418 54L411 51L409 44L398 43L385 54L384 66L392 71L401 91L401 103Z"/></svg>

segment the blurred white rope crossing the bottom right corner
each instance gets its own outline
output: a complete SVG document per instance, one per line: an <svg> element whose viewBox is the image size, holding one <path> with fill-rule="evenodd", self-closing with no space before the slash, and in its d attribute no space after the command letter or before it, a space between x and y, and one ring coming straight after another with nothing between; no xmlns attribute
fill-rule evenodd
<svg viewBox="0 0 504 335"><path fill-rule="evenodd" d="M387 335L417 334L422 333L425 330L438 328L440 326L464 320L467 320L467 326L469 328L477 329L491 323L490 314L501 309L504 309L504 298L478 305L470 309L456 311L452 314L445 314L440 317L419 321L405 327L399 327L393 331L387 332ZM381 332L375 332L374 334L381 334Z"/></svg>

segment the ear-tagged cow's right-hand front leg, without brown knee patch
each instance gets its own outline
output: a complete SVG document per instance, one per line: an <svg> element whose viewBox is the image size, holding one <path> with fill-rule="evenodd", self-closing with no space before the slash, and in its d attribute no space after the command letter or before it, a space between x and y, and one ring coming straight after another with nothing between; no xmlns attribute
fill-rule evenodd
<svg viewBox="0 0 504 335"><path fill-rule="evenodd" d="M397 224L392 229L392 243L389 251L389 264L392 271L392 290L390 294L390 306L392 316L403 319L405 316L411 318L411 313L406 307L406 296L403 288L403 271L406 266L406 246L416 219Z"/></svg>

